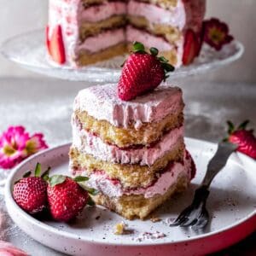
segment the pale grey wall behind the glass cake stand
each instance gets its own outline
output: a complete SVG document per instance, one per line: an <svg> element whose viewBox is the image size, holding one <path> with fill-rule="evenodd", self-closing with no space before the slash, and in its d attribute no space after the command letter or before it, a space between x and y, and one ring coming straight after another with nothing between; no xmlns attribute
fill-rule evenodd
<svg viewBox="0 0 256 256"><path fill-rule="evenodd" d="M193 0L191 0L193 1ZM47 0L0 0L0 43L16 34L44 27ZM197 79L256 81L256 0L208 0L207 17L216 16L230 25L231 33L245 45L241 60ZM37 76L0 56L0 76Z"/></svg>

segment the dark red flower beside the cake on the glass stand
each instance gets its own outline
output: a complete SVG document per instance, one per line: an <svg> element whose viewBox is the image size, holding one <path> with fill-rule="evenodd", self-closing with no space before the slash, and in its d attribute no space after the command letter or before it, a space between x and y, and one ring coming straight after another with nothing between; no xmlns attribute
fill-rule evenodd
<svg viewBox="0 0 256 256"><path fill-rule="evenodd" d="M229 26L216 18L204 20L203 40L214 49L222 49L224 44L229 44L234 38L229 34Z"/></svg>

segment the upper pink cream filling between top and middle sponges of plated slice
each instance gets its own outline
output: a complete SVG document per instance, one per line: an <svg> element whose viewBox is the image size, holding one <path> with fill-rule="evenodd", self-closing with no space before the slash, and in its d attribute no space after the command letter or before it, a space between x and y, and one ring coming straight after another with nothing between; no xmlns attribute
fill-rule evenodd
<svg viewBox="0 0 256 256"><path fill-rule="evenodd" d="M183 126L169 131L159 143L149 148L123 149L104 143L100 137L80 130L73 121L73 147L85 154L92 154L100 160L120 164L140 164L152 166L155 160L175 148L177 141L183 139Z"/></svg>

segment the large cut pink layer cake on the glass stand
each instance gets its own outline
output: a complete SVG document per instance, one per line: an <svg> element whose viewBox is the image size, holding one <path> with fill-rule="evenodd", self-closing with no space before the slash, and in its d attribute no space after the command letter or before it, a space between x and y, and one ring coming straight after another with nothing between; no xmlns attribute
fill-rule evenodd
<svg viewBox="0 0 256 256"><path fill-rule="evenodd" d="M153 45L176 67L201 49L206 0L49 0L51 59L82 67ZM149 45L150 44L150 45Z"/></svg>

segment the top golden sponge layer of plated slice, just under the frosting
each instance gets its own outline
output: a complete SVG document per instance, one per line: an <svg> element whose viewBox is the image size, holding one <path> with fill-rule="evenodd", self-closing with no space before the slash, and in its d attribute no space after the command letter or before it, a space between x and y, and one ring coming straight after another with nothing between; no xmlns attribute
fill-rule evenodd
<svg viewBox="0 0 256 256"><path fill-rule="evenodd" d="M183 125L183 106L177 114L169 114L159 122L144 123L139 129L113 126L106 120L94 119L86 111L76 111L75 118L79 119L83 129L101 137L104 143L125 148L131 145L149 145L160 140L167 131Z"/></svg>

